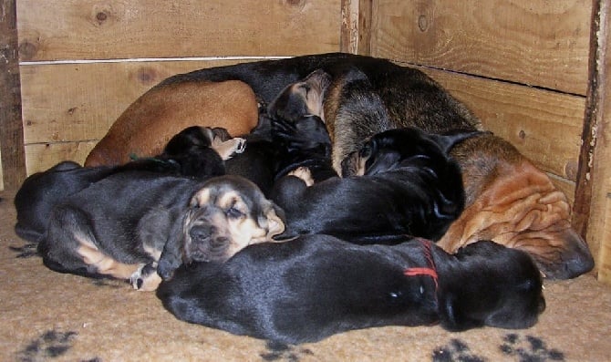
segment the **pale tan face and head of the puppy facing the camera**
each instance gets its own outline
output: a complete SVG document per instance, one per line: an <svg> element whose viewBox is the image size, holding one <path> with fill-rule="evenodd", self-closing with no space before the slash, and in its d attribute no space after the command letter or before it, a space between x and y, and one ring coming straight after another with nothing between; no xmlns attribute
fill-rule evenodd
<svg viewBox="0 0 611 362"><path fill-rule="evenodd" d="M183 262L223 262L252 243L274 242L284 212L253 182L226 175L195 192L183 223Z"/></svg>

